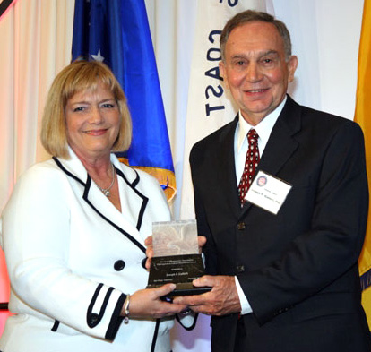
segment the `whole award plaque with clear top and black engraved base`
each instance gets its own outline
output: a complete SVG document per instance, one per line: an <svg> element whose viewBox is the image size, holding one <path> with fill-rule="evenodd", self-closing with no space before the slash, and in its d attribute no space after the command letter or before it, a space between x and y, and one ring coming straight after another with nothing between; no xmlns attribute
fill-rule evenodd
<svg viewBox="0 0 371 352"><path fill-rule="evenodd" d="M198 253L195 220L154 222L153 257L147 288L175 283L171 296L197 295L211 288L196 288L194 279L204 275L203 258Z"/></svg>

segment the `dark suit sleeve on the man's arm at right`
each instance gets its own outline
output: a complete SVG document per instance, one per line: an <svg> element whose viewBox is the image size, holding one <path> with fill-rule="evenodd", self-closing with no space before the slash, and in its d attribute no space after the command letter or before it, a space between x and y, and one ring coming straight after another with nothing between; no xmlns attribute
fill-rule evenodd
<svg viewBox="0 0 371 352"><path fill-rule="evenodd" d="M358 125L341 124L324 150L321 165L315 167L320 171L309 225L275 261L238 275L260 323L322 290L357 287L349 282L357 279L354 273L358 273L368 209L365 149ZM307 214L298 209L292 217L302 217L304 222Z"/></svg>

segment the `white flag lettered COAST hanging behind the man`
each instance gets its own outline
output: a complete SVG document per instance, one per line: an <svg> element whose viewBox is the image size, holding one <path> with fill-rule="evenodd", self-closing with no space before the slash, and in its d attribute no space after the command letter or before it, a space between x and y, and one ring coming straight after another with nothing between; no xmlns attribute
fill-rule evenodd
<svg viewBox="0 0 371 352"><path fill-rule="evenodd" d="M186 115L181 219L194 218L194 196L189 152L195 142L229 123L237 114L219 72L220 33L234 14L253 9L266 11L265 0L202 0L197 20Z"/></svg>

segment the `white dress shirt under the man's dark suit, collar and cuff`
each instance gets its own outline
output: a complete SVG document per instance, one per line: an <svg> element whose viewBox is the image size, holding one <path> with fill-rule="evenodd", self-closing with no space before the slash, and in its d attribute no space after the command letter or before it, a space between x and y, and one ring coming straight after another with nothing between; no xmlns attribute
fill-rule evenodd
<svg viewBox="0 0 371 352"><path fill-rule="evenodd" d="M251 128L255 129L256 133L259 136L258 148L260 157L262 158L263 151L272 133L273 126L276 123L278 116L280 116L280 112L282 111L282 108L286 103L286 99L287 98L285 97L285 99L283 99L280 105L274 111L272 111L271 114L265 116L263 120L255 126L248 124L245 118L242 116L241 111L238 112L238 124L235 133L235 167L237 186L242 174L244 173L246 153L248 150L247 133L250 131ZM253 310L248 303L248 300L241 288L241 285L238 282L237 276L235 276L235 282L239 301L241 304L241 314L252 313Z"/></svg>

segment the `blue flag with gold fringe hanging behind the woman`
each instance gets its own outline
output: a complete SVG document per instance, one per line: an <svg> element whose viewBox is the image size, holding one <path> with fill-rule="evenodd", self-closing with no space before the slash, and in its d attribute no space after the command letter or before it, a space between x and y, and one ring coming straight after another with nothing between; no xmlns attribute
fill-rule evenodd
<svg viewBox="0 0 371 352"><path fill-rule="evenodd" d="M133 120L132 145L117 156L155 176L170 200L175 174L144 0L75 0L72 55L115 73Z"/></svg>

